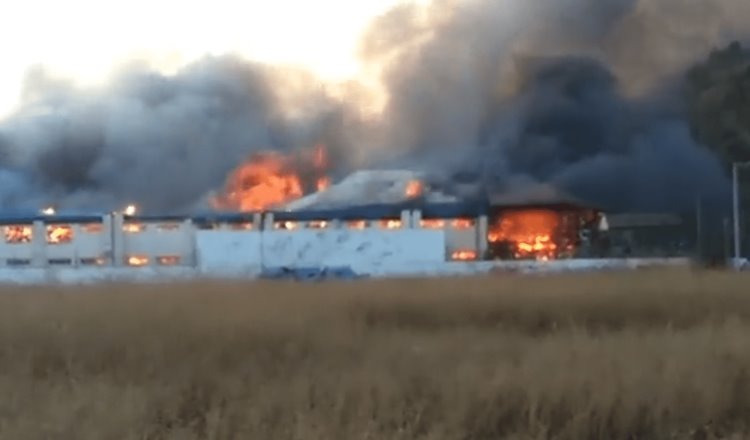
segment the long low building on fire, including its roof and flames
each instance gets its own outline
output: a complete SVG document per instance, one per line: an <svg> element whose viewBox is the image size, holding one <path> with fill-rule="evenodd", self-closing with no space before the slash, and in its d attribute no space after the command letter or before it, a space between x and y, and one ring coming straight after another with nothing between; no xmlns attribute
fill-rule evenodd
<svg viewBox="0 0 750 440"><path fill-rule="evenodd" d="M338 181L331 174L322 145L262 152L228 174L201 215L144 215L129 205L98 217L61 216L50 208L0 219L0 261L203 270L471 267L480 260L580 257L602 218L600 210L549 185L472 198L413 170L360 170Z"/></svg>

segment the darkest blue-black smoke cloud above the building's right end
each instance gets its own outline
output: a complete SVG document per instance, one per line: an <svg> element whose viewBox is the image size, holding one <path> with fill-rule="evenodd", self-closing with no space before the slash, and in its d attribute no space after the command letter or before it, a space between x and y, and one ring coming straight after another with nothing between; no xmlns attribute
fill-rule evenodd
<svg viewBox="0 0 750 440"><path fill-rule="evenodd" d="M588 58L535 64L513 106L519 115L511 137L497 140L507 135L502 112L484 127L481 138L501 158L483 164L501 171L493 183L525 175L599 206L648 211L725 195L720 162L692 139L668 97L628 99L611 72Z"/></svg>

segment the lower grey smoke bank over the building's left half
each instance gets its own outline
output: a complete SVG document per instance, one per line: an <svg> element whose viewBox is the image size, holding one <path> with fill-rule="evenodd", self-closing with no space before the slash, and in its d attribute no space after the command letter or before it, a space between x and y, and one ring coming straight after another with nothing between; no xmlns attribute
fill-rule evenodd
<svg viewBox="0 0 750 440"><path fill-rule="evenodd" d="M341 111L313 80L232 58L171 77L121 72L101 90L44 72L29 82L21 112L0 125L6 209L187 210L253 150L342 142L330 129Z"/></svg>

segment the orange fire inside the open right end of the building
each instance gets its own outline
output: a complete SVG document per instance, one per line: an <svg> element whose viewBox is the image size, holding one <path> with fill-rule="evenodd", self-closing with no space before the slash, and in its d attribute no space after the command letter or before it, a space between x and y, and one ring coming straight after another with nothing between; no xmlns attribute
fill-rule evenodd
<svg viewBox="0 0 750 440"><path fill-rule="evenodd" d="M487 238L492 244L509 246L513 258L550 260L558 254L559 226L560 215L555 211L508 211L491 225Z"/></svg>

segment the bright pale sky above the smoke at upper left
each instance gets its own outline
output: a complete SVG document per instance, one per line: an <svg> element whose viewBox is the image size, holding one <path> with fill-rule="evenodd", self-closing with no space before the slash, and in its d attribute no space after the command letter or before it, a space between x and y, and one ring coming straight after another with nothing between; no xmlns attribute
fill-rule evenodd
<svg viewBox="0 0 750 440"><path fill-rule="evenodd" d="M0 118L32 67L89 85L146 61L165 73L205 55L358 73L367 24L399 0L8 0L0 14Z"/></svg>

